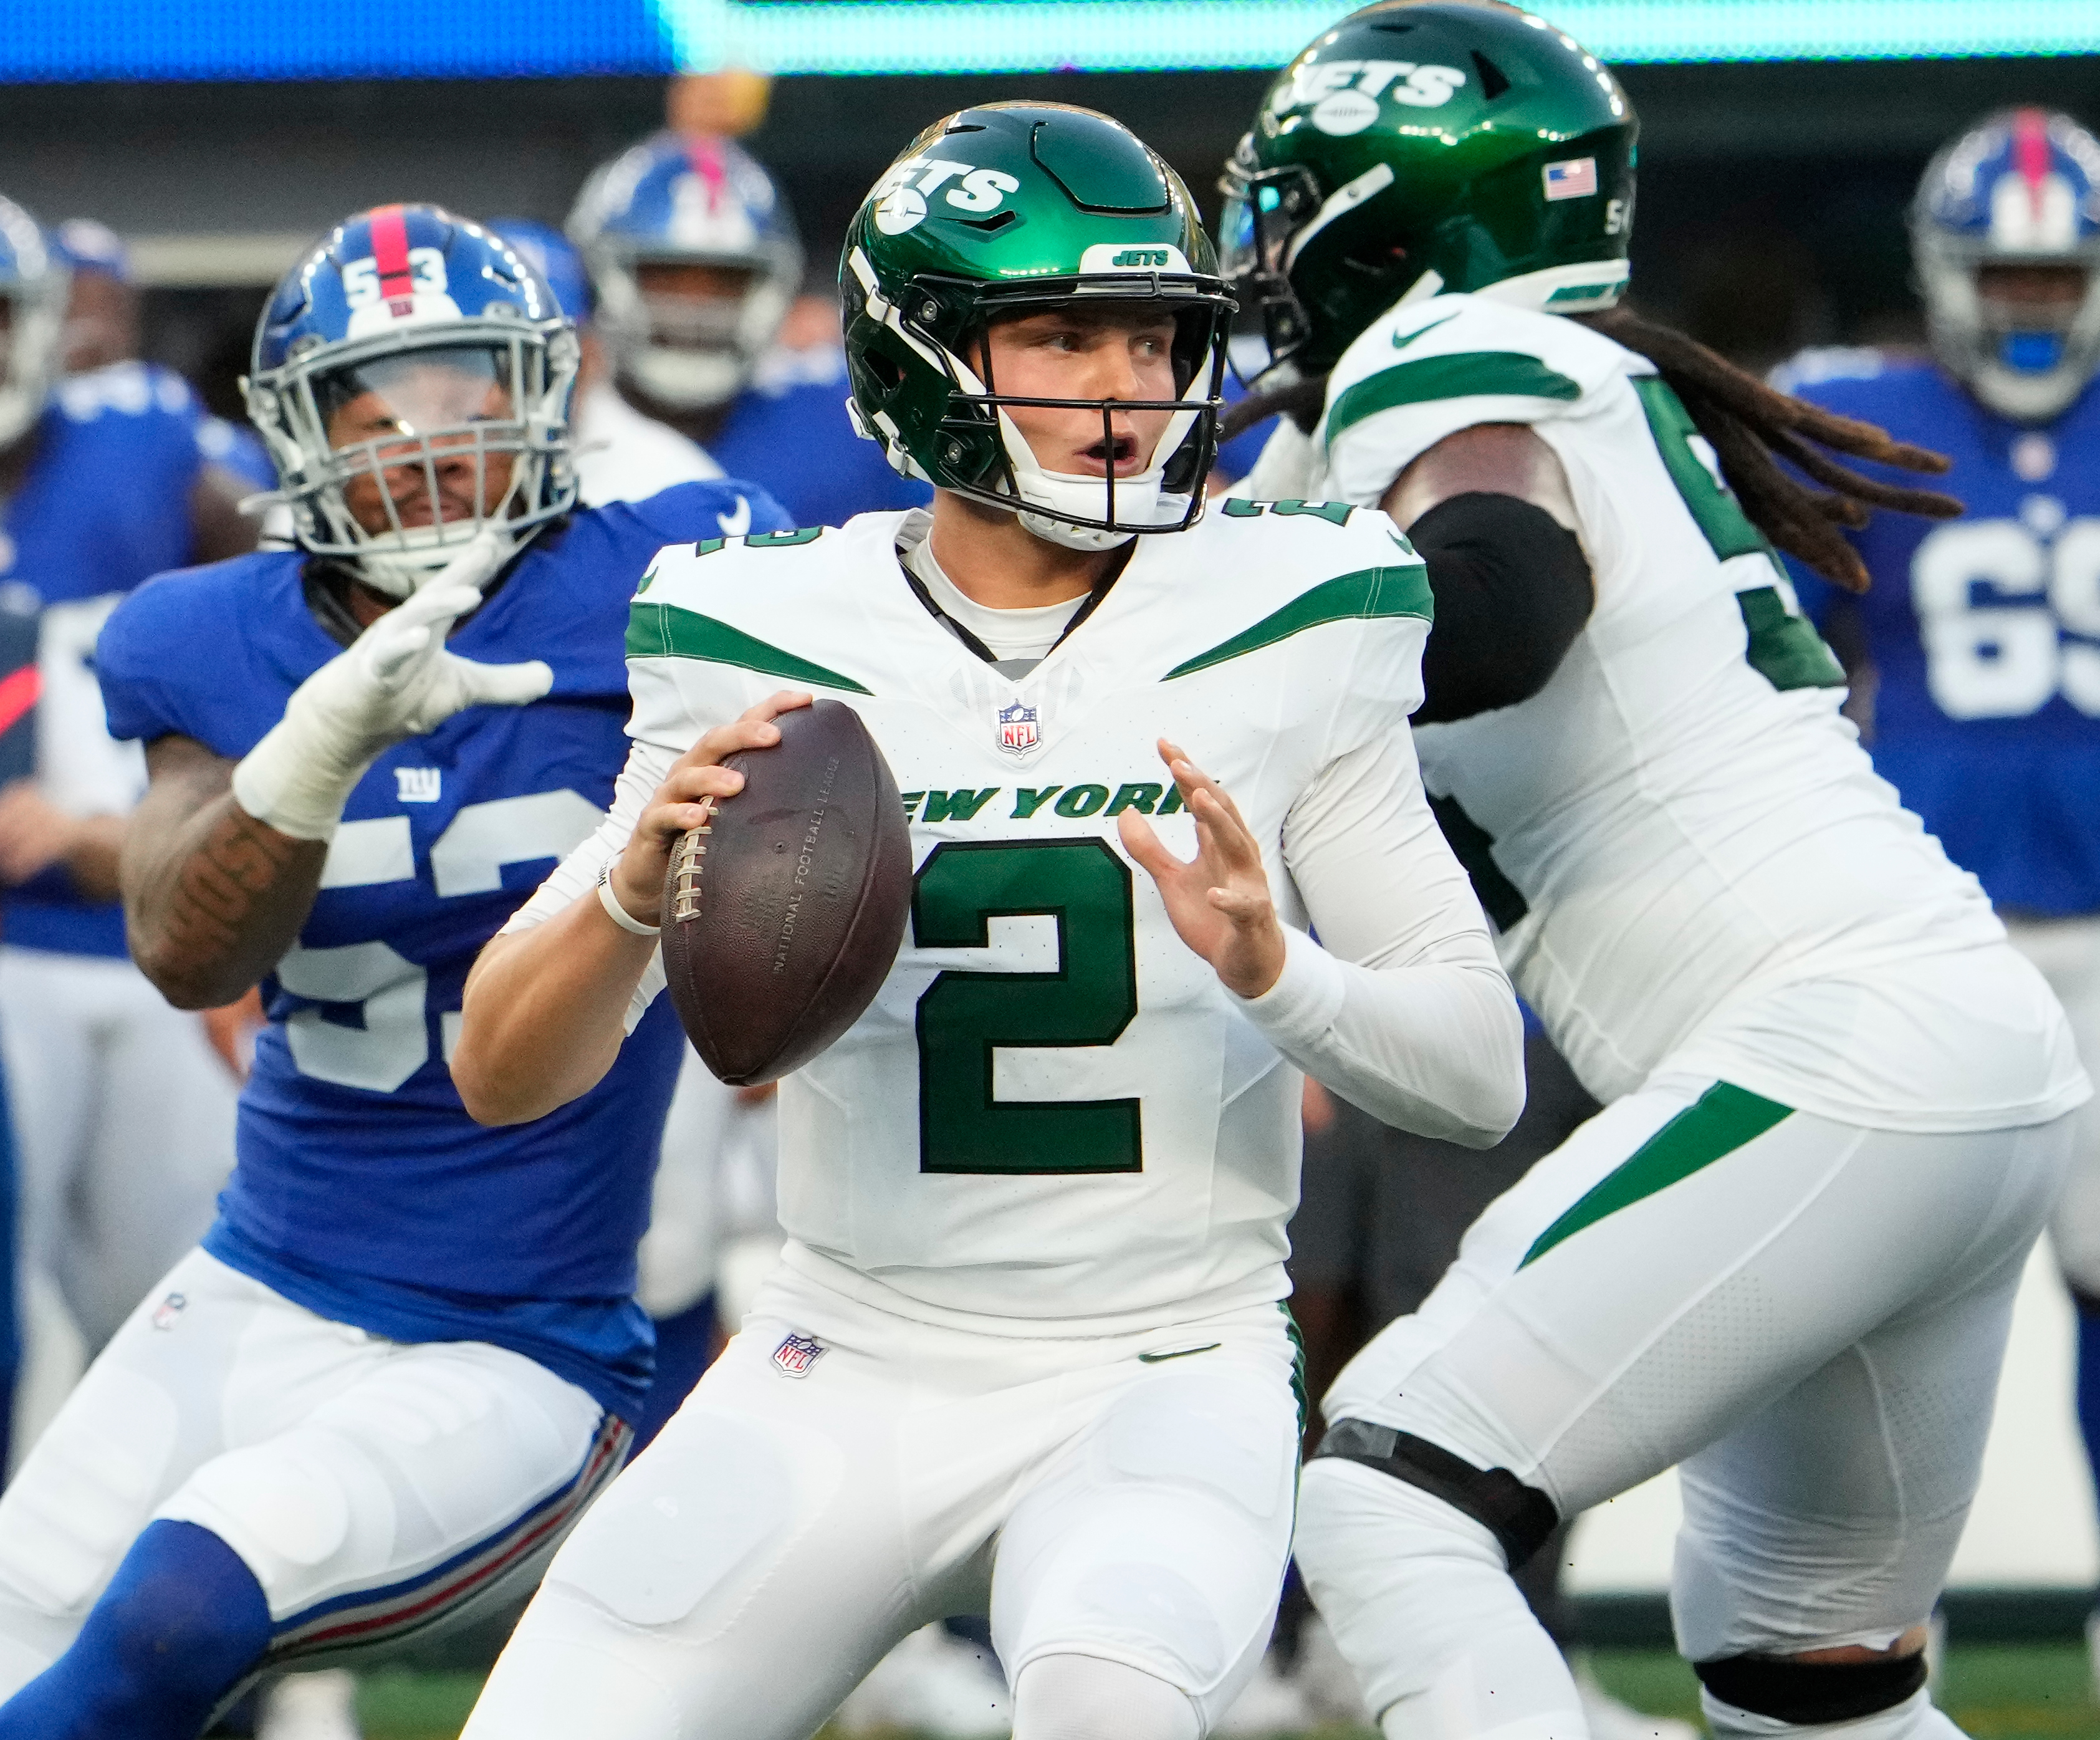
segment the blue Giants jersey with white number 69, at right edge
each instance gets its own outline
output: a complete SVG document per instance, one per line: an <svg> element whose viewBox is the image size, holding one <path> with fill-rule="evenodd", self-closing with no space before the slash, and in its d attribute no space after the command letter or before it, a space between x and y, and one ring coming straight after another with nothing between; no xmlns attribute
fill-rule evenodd
<svg viewBox="0 0 2100 1740"><path fill-rule="evenodd" d="M1875 771L2001 908L2100 912L2100 385L2037 429L1875 351L1810 351L1779 378L1947 454L1947 477L1903 481L1968 504L1852 534L1873 576L1854 607L1880 679ZM1833 588L1796 578L1823 616Z"/></svg>

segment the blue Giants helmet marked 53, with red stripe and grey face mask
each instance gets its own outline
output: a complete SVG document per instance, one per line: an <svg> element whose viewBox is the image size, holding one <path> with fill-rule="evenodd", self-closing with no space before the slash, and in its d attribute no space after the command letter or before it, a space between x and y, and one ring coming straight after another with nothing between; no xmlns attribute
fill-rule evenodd
<svg viewBox="0 0 2100 1740"><path fill-rule="evenodd" d="M575 326L494 231L437 206L344 219L256 326L248 416L298 544L407 597L483 527L575 504Z"/></svg>

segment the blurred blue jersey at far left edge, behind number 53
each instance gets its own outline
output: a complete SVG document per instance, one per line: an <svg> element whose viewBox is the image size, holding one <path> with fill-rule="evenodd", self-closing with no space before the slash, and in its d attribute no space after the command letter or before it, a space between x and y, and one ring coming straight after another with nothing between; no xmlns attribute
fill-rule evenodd
<svg viewBox="0 0 2100 1740"><path fill-rule="evenodd" d="M113 364L61 380L29 469L0 502L0 605L38 618L38 744L61 809L122 813L145 790L136 748L103 731L94 635L116 601L189 561L189 492L225 441L181 376ZM8 891L4 935L23 948L124 954L124 912L86 902L61 868Z"/></svg>

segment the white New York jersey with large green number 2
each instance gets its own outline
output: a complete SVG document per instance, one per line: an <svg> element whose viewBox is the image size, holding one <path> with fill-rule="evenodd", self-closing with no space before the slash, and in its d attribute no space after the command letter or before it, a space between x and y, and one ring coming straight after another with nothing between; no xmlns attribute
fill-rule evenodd
<svg viewBox="0 0 2100 1740"><path fill-rule="evenodd" d="M1336 954L1294 948L1371 981L1344 965L1380 956L1359 946L1369 927L1403 931L1386 965L1453 939L1512 1021L1514 1063L1514 1004L1407 746L1422 563L1376 511L1235 502L1140 540L1100 607L1010 679L899 572L926 525L861 515L666 551L632 607L636 765L808 687L861 712L911 824L903 952L861 1021L781 1084L788 1261L907 1316L1029 1332L1279 1299L1300 1076L1176 937L1117 817L1195 853L1157 750L1180 744L1262 843L1285 923L1310 908ZM1386 830L1405 815L1411 834ZM1350 849L1361 864L1338 868ZM571 859L533 906L590 868ZM1514 1116L1514 1068L1510 1084Z"/></svg>

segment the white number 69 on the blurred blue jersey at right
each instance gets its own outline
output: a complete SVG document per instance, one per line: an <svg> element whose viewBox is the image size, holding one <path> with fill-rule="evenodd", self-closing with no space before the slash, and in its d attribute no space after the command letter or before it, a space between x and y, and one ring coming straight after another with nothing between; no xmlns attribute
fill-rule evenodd
<svg viewBox="0 0 2100 1740"><path fill-rule="evenodd" d="M1926 683L1949 719L2018 719L2062 696L2100 717L2100 519L1940 525L1911 559Z"/></svg>

